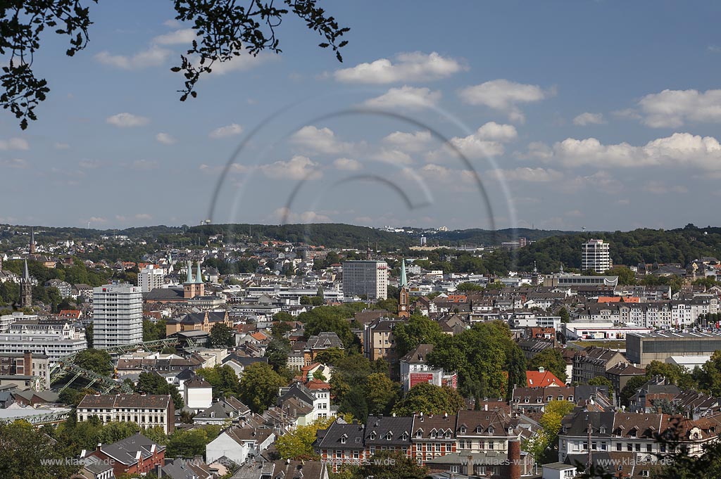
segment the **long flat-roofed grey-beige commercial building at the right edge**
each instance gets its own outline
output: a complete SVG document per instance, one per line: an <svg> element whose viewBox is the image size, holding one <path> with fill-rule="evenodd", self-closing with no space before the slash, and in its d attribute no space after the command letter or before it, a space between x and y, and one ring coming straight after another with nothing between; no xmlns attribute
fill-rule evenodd
<svg viewBox="0 0 721 479"><path fill-rule="evenodd" d="M704 356L721 349L719 333L632 333L626 336L626 357L641 367L671 356Z"/></svg>

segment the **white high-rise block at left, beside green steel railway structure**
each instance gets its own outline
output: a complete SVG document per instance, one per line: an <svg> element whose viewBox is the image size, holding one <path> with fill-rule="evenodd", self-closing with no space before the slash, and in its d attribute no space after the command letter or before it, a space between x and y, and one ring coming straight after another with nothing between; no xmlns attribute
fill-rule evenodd
<svg viewBox="0 0 721 479"><path fill-rule="evenodd" d="M118 284L93 289L93 346L107 348L143 341L143 292Z"/></svg>

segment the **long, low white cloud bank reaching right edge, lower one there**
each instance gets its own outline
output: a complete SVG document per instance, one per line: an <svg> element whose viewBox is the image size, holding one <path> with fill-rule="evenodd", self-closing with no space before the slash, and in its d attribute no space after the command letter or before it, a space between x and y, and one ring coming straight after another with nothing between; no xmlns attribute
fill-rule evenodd
<svg viewBox="0 0 721 479"><path fill-rule="evenodd" d="M673 133L644 146L603 145L596 138L566 138L543 151L541 159L565 166L693 166L717 171L721 169L721 144L716 138L691 133Z"/></svg>

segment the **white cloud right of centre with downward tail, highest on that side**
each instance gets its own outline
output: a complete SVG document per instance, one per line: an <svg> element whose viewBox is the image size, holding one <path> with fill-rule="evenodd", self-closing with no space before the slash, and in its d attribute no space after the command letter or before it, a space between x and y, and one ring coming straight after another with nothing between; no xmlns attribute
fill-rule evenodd
<svg viewBox="0 0 721 479"><path fill-rule="evenodd" d="M539 102L553 91L544 91L538 85L526 85L505 79L486 81L459 91L459 97L467 104L484 105L504 112L512 121L523 122L525 117L518 104Z"/></svg>

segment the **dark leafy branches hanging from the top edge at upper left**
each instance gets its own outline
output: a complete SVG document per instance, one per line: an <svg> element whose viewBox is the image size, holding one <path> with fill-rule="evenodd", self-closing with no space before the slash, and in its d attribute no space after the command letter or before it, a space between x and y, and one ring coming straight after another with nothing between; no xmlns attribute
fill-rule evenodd
<svg viewBox="0 0 721 479"><path fill-rule="evenodd" d="M272 2L236 4L232 0L197 4L189 0L174 2L175 19L185 22L195 30L198 40L187 45L180 55L180 66L171 68L182 72L184 86L180 89L180 101L195 98L195 87L201 77L208 75L220 63L231 61L239 55L257 55L268 50L280 53L278 27L288 16L298 17L311 30L319 33L322 48L331 48L338 61L342 61L340 48L348 41L342 35L348 28L340 27L335 19L316 1L283 1L285 8ZM66 50L73 56L86 48L92 21L90 9L74 1L31 0L1 9L0 27L3 41L0 54L8 55L6 66L0 75L2 90L0 105L19 120L25 130L29 120L37 120L35 107L45 101L50 93L48 81L35 76L33 59L44 32L67 35L70 45ZM198 59L198 61L195 61Z"/></svg>

